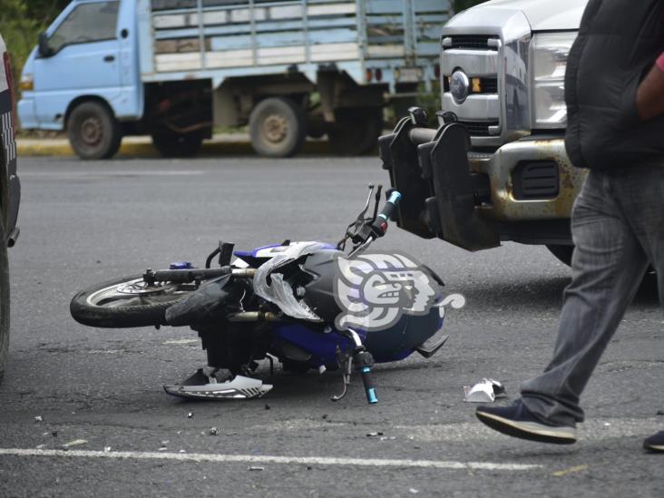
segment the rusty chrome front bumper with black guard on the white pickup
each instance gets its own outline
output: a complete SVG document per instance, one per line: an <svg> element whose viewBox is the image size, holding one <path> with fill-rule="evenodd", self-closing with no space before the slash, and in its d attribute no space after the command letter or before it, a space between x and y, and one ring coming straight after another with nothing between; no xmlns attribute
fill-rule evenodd
<svg viewBox="0 0 664 498"><path fill-rule="evenodd" d="M403 194L402 229L468 250L503 240L571 244L571 208L585 171L571 165L561 136L479 153L470 151L462 124L432 130L404 118L378 143L392 187Z"/></svg>

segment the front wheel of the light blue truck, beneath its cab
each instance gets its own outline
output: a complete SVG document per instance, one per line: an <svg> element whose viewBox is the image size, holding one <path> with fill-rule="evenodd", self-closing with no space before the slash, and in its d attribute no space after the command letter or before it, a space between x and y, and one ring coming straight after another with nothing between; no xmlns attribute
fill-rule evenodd
<svg viewBox="0 0 664 498"><path fill-rule="evenodd" d="M108 159L120 149L122 131L111 110L88 101L73 108L67 120L67 136L81 159Z"/></svg>

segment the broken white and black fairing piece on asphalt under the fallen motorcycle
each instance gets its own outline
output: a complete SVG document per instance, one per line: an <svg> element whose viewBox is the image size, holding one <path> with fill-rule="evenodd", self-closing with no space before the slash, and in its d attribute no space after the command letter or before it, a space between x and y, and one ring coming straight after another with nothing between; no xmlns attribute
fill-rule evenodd
<svg viewBox="0 0 664 498"><path fill-rule="evenodd" d="M164 391L189 399L252 399L269 393L272 386L262 381L245 376L234 376L224 382L219 382L214 376L207 376L199 369L182 384L163 386Z"/></svg>

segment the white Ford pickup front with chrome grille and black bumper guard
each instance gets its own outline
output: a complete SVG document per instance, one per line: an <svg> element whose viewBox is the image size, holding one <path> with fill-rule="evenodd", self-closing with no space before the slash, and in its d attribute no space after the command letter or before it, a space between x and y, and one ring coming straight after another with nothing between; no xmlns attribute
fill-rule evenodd
<svg viewBox="0 0 664 498"><path fill-rule="evenodd" d="M546 245L569 263L585 172L564 148L563 78L585 5L493 0L445 24L439 128L414 112L380 139L402 229L469 250Z"/></svg>

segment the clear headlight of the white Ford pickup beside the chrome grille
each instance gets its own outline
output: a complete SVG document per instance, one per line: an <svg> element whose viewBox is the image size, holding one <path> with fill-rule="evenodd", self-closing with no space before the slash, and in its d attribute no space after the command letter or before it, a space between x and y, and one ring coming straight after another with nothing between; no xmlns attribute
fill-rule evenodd
<svg viewBox="0 0 664 498"><path fill-rule="evenodd" d="M567 126L565 69L576 32L541 33L532 37L532 128Z"/></svg>

